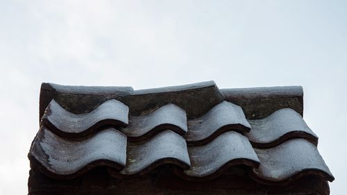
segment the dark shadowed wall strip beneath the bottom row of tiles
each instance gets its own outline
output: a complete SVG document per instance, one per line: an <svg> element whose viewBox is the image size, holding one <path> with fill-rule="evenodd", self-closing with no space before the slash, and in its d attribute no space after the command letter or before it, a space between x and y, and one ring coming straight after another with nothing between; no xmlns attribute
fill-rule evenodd
<svg viewBox="0 0 347 195"><path fill-rule="evenodd" d="M328 195L328 183L320 177L306 176L291 185L263 185L242 171L230 173L208 181L187 181L175 177L167 169L160 169L147 177L118 179L110 178L102 168L94 169L83 177L73 180L56 180L37 171L30 171L29 195L67 194L124 194L124 195L171 195L171 194L238 194L238 195Z"/></svg>

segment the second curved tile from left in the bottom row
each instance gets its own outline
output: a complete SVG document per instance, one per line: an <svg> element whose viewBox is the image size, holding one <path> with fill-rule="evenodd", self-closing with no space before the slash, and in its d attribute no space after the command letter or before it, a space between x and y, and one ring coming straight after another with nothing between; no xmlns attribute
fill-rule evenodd
<svg viewBox="0 0 347 195"><path fill-rule="evenodd" d="M120 173L110 173L115 177L144 175L162 164L175 164L183 169L190 167L185 139L171 130L158 133L141 144L128 143L126 167Z"/></svg>

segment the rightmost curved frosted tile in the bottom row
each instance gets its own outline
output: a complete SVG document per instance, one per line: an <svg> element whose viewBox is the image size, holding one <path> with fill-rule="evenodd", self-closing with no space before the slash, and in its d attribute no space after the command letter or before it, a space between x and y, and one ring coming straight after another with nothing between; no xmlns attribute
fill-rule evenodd
<svg viewBox="0 0 347 195"><path fill-rule="evenodd" d="M316 146L305 139L289 139L270 149L255 149L260 167L251 176L266 184L286 184L310 174L332 181L330 173Z"/></svg>

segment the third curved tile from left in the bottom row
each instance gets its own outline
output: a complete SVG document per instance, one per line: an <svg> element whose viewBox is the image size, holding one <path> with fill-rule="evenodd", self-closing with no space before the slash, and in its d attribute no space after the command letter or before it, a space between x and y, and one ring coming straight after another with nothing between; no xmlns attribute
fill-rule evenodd
<svg viewBox="0 0 347 195"><path fill-rule="evenodd" d="M223 133L203 146L189 146L188 152L192 167L179 174L188 180L212 179L234 165L259 166L247 137L235 131Z"/></svg>

